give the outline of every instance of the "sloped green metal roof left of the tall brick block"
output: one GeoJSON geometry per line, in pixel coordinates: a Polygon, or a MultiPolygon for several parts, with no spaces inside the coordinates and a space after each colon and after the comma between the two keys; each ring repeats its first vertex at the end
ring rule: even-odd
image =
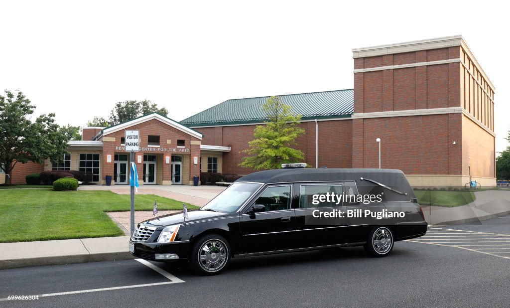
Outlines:
{"type": "MultiPolygon", "coordinates": [[[[353,89],[277,96],[292,107],[293,113],[300,114],[303,120],[350,117],[354,112],[353,89]]],[[[228,99],[180,123],[187,126],[213,126],[263,122],[266,116],[262,105],[269,97],[228,99]]]]}

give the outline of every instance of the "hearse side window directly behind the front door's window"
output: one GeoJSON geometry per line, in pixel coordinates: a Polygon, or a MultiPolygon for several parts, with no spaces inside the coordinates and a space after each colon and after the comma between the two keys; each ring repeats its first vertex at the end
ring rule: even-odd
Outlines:
{"type": "Polygon", "coordinates": [[[299,197],[299,208],[333,208],[341,207],[342,200],[338,202],[337,197],[330,197],[329,202],[325,200],[326,194],[335,194],[341,196],[343,187],[341,184],[324,184],[324,185],[301,185],[301,195],[299,197]],[[322,201],[321,196],[324,196],[322,201]],[[315,204],[314,204],[315,203],[315,204]],[[338,203],[338,204],[337,204],[338,203]]]}

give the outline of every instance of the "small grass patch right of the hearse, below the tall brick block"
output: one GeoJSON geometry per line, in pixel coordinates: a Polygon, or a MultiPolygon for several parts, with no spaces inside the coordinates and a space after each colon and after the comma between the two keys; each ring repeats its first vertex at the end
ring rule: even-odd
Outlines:
{"type": "Polygon", "coordinates": [[[427,191],[415,190],[418,203],[422,206],[453,208],[473,202],[476,197],[472,191],[427,191]]]}

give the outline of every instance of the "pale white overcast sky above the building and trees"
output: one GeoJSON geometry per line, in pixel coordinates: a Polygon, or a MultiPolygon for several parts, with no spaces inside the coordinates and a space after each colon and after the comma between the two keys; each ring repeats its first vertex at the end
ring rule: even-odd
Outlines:
{"type": "Polygon", "coordinates": [[[491,1],[2,1],[0,90],[60,124],[127,99],[180,121],[230,98],[349,89],[352,48],[462,34],[496,87],[501,151],[507,14],[491,1]]]}

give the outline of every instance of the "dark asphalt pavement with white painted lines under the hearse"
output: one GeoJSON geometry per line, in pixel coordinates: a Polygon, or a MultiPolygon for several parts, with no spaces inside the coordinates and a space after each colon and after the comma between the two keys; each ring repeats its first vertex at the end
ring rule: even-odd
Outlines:
{"type": "Polygon", "coordinates": [[[197,276],[187,266],[136,260],[0,271],[0,306],[9,307],[509,303],[510,216],[431,229],[425,237],[397,242],[387,258],[369,258],[361,247],[260,256],[233,259],[224,274],[211,277],[197,276]],[[104,288],[113,289],[97,290],[104,288]],[[36,300],[3,300],[36,294],[36,300]]]}

